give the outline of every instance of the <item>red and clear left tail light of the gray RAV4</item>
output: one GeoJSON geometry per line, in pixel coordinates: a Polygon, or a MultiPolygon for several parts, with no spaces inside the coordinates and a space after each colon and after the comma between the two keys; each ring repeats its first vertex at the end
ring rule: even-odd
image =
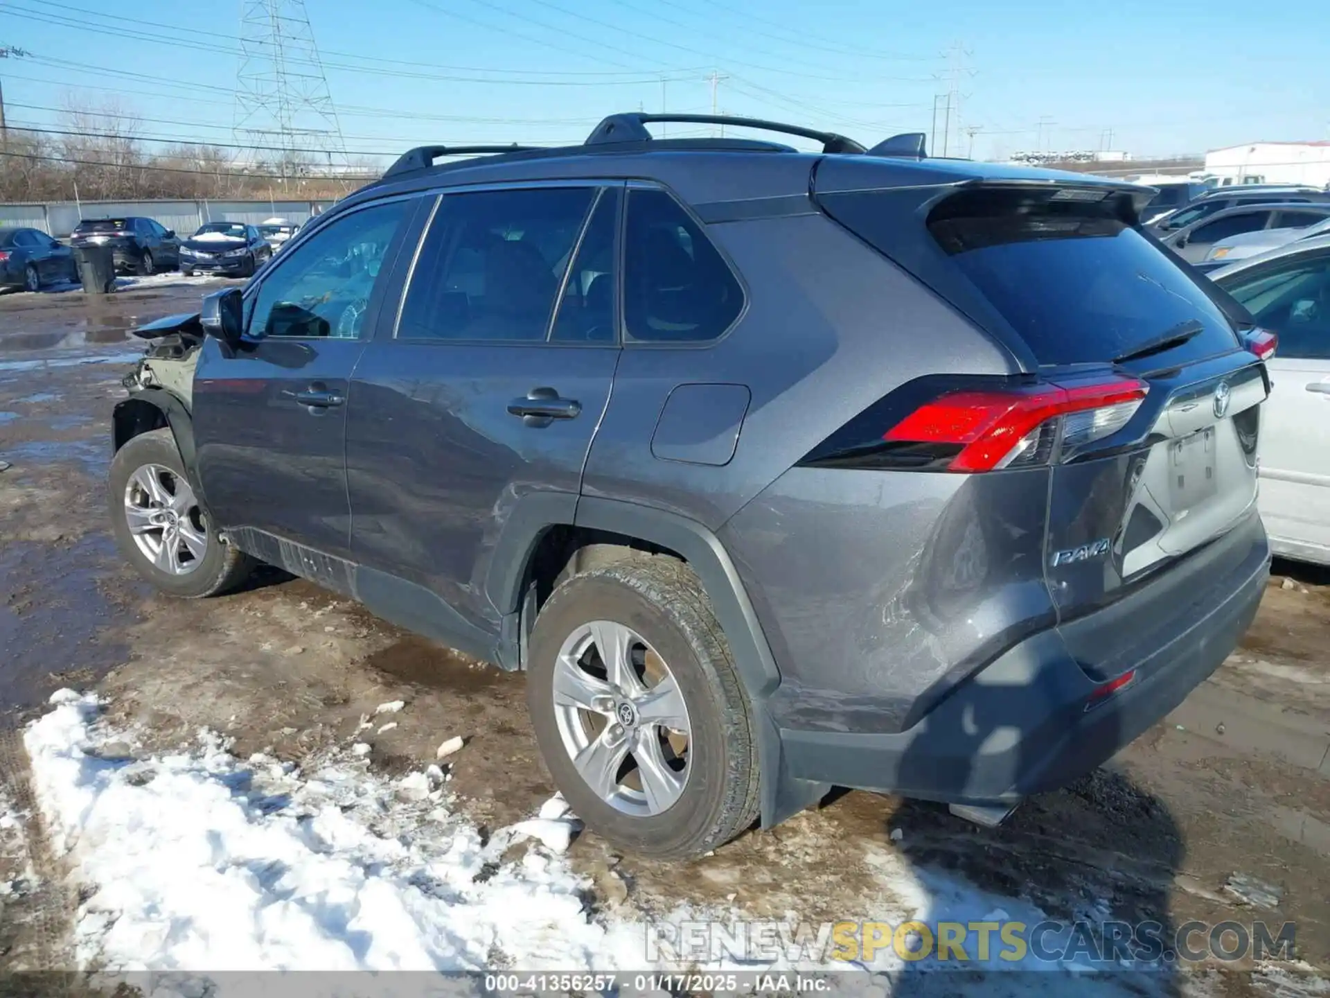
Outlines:
{"type": "Polygon", "coordinates": [[[1093,385],[954,391],[919,406],[891,427],[887,443],[959,446],[947,471],[992,471],[1035,463],[1061,420],[1063,446],[1079,447],[1117,432],[1145,398],[1134,378],[1093,385]]]}

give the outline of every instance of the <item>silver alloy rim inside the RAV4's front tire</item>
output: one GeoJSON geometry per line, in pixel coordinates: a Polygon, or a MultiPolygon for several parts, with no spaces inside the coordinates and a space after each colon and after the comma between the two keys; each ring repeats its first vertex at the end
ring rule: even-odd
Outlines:
{"type": "Polygon", "coordinates": [[[138,551],[169,575],[188,575],[207,554],[207,524],[184,476],[144,464],[125,484],[125,522],[138,551]]]}

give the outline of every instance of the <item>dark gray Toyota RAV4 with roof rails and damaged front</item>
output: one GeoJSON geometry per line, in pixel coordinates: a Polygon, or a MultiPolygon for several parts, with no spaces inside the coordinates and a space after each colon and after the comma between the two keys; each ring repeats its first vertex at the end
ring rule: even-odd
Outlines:
{"type": "Polygon", "coordinates": [[[1150,192],[658,120],[412,150],[141,330],[126,558],[528,671],[555,784],[656,856],[837,784],[992,824],[1178,704],[1269,574],[1273,337],[1150,192]]]}

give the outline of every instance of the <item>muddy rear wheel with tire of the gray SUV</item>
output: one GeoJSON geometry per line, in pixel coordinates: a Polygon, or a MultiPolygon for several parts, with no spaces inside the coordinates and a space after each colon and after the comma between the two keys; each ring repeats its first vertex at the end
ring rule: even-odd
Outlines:
{"type": "Polygon", "coordinates": [[[642,556],[575,575],[541,608],[529,648],[536,740],[588,828],[681,860],[753,824],[751,711],[686,564],[642,556]]]}

